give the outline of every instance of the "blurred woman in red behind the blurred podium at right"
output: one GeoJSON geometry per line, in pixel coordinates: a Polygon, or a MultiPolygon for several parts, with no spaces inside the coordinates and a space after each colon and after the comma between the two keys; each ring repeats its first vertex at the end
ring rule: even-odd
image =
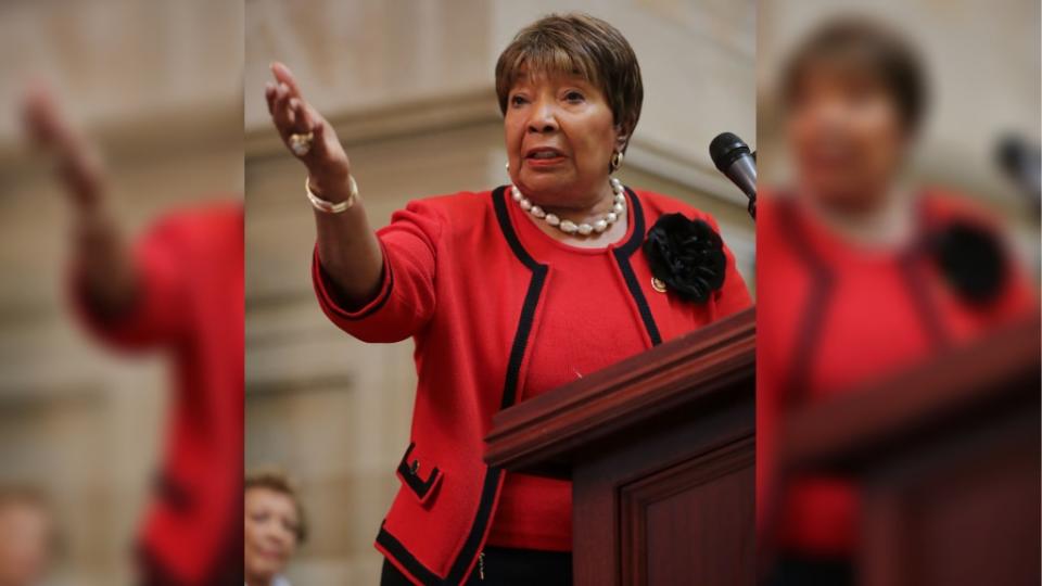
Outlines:
{"type": "MultiPolygon", "coordinates": [[[[977,206],[908,183],[927,107],[918,53],[889,27],[841,18],[783,68],[787,189],[761,190],[758,467],[777,584],[850,584],[854,487],[774,485],[779,413],[974,339],[1034,307],[999,224],[977,206]]],[[[765,521],[764,521],[765,520],[765,521]]]]}

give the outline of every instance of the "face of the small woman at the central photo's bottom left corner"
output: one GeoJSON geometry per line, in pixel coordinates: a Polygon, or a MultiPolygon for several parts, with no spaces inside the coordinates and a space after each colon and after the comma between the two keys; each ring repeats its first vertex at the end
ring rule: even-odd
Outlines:
{"type": "Polygon", "coordinates": [[[270,488],[245,493],[245,573],[270,581],[296,550],[300,519],[293,499],[270,488]]]}

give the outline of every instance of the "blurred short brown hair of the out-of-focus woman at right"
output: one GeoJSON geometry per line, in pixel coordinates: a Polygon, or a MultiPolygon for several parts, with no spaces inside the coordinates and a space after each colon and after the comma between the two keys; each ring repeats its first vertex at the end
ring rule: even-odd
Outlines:
{"type": "Polygon", "coordinates": [[[918,51],[892,27],[865,16],[841,16],[819,26],[782,68],[784,101],[791,104],[806,73],[823,65],[878,80],[907,132],[918,130],[928,101],[926,71],[918,51]]]}

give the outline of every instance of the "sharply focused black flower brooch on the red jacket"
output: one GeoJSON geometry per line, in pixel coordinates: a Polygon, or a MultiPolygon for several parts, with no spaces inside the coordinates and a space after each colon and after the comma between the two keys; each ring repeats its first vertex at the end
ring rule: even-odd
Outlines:
{"type": "Polygon", "coordinates": [[[662,216],[648,231],[644,254],[657,291],[670,290],[681,298],[706,303],[724,284],[724,243],[704,220],[683,214],[662,216]]]}

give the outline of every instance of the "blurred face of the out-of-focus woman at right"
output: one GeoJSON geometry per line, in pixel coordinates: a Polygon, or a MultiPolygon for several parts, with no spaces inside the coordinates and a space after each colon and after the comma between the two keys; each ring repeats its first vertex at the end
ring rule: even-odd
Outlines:
{"type": "Polygon", "coordinates": [[[790,104],[789,146],[804,196],[851,211],[886,194],[906,148],[892,95],[868,75],[806,72],[790,104]]]}

